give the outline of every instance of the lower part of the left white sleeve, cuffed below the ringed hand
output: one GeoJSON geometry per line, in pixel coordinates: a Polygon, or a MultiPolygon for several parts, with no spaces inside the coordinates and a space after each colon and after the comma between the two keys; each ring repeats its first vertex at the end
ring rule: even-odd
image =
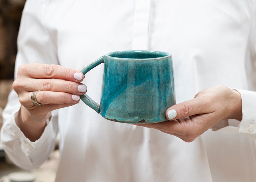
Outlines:
{"type": "MultiPolygon", "coordinates": [[[[3,112],[4,124],[0,138],[10,160],[20,168],[31,170],[47,160],[54,150],[58,126],[56,117],[52,117],[47,121],[48,125],[41,137],[31,142],[15,123],[15,116],[20,106],[16,92],[11,91],[9,102],[3,112]]],[[[53,115],[56,115],[56,112],[53,115]]]]}

